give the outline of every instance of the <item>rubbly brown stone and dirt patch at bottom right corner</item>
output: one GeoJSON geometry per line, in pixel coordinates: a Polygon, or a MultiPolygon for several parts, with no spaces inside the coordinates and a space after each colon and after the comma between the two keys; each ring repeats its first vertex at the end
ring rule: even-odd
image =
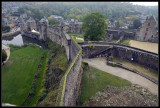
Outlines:
{"type": "Polygon", "coordinates": [[[138,85],[107,86],[83,106],[158,106],[158,96],[138,85]]]}

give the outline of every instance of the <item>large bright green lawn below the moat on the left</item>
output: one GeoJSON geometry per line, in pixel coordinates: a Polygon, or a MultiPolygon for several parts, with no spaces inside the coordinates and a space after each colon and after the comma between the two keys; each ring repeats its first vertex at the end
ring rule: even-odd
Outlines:
{"type": "Polygon", "coordinates": [[[27,98],[40,58],[46,50],[36,46],[11,47],[9,66],[2,66],[2,103],[21,105],[27,98]]]}

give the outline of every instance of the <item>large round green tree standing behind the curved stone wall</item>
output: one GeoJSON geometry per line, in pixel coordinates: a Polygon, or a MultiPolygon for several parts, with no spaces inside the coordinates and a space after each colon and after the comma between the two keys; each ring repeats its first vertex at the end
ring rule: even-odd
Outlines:
{"type": "Polygon", "coordinates": [[[99,41],[105,35],[108,25],[105,16],[99,12],[86,15],[83,19],[82,30],[85,32],[85,41],[99,41]]]}

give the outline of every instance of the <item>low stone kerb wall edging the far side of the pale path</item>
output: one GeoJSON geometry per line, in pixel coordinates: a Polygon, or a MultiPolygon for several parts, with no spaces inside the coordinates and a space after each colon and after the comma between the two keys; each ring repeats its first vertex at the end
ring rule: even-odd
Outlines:
{"type": "Polygon", "coordinates": [[[131,68],[129,68],[129,67],[126,67],[126,66],[122,65],[121,63],[116,63],[116,62],[112,62],[112,61],[107,61],[107,65],[117,66],[117,67],[120,67],[120,68],[129,70],[129,71],[134,72],[134,73],[136,73],[136,74],[138,74],[138,75],[141,75],[142,77],[144,77],[144,78],[146,78],[146,79],[148,79],[148,80],[150,80],[150,81],[152,81],[153,83],[155,83],[155,84],[158,85],[158,81],[155,80],[154,78],[151,78],[150,76],[148,76],[148,75],[146,75],[146,74],[143,74],[143,73],[141,73],[141,72],[139,72],[139,71],[137,71],[137,70],[135,70],[135,69],[131,69],[131,68]]]}

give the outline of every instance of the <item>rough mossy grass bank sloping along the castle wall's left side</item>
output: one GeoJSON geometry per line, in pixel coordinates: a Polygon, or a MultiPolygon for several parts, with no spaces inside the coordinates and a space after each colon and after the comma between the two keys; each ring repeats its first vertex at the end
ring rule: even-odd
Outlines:
{"type": "Polygon", "coordinates": [[[49,54],[36,106],[55,106],[60,80],[69,66],[64,47],[49,39],[47,44],[49,54]]]}

